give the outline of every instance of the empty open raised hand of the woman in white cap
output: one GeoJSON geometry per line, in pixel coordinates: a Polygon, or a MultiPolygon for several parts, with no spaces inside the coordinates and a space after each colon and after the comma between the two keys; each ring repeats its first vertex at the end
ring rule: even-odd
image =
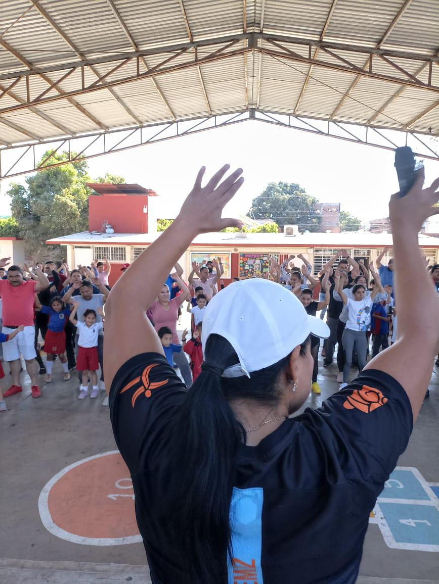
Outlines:
{"type": "Polygon", "coordinates": [[[229,170],[228,164],[220,168],[212,176],[208,184],[201,186],[205,166],[202,166],[181,210],[178,219],[184,221],[186,225],[193,225],[193,231],[196,233],[208,233],[209,231],[221,231],[226,227],[242,227],[241,221],[237,219],[223,219],[221,214],[224,206],[232,199],[234,194],[244,182],[240,177],[243,172],[241,168],[231,173],[226,179],[222,180],[229,170]]]}

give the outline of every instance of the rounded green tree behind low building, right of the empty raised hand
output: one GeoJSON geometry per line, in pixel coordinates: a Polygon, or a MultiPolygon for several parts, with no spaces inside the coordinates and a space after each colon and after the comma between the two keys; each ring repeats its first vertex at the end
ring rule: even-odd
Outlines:
{"type": "Polygon", "coordinates": [[[302,231],[319,231],[322,217],[313,210],[317,199],[296,183],[268,183],[253,199],[248,217],[272,219],[281,227],[299,225],[302,231]]]}

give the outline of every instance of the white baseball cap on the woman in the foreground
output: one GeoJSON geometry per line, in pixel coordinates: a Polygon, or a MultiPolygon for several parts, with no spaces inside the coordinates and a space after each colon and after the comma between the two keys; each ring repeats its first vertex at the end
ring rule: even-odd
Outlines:
{"type": "Polygon", "coordinates": [[[326,339],[326,322],[307,314],[299,298],[280,284],[251,278],[217,293],[203,317],[202,346],[212,334],[227,339],[239,359],[223,377],[250,377],[284,359],[312,333],[326,339]]]}

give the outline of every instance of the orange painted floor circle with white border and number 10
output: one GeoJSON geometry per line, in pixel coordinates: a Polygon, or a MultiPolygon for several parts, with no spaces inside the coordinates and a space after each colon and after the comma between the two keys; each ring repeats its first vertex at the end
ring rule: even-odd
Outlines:
{"type": "Polygon", "coordinates": [[[130,473],[117,451],[86,458],[58,473],[44,487],[39,507],[44,526],[75,543],[141,541],[130,473]]]}

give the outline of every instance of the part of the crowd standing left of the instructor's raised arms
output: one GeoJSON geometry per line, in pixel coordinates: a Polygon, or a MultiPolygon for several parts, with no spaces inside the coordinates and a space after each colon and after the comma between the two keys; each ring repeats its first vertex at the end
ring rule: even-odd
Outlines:
{"type": "MultiPolygon", "coordinates": [[[[78,371],[78,398],[96,398],[105,391],[103,381],[103,304],[109,294],[108,259],[70,270],[64,261],[10,265],[0,260],[0,319],[2,356],[9,364],[12,385],[0,390],[0,412],[6,411],[5,398],[23,391],[20,383],[21,358],[31,380],[33,398],[42,395],[44,383],[54,381],[53,365],[59,360],[64,381],[78,371]],[[41,352],[46,353],[43,361],[41,352]],[[97,371],[101,368],[101,388],[97,371]]],[[[122,270],[127,269],[127,265],[122,270]]],[[[62,376],[62,377],[61,377],[62,376]]],[[[0,364],[0,377],[5,371],[0,364]]],[[[105,398],[102,405],[108,405],[105,398]]]]}

